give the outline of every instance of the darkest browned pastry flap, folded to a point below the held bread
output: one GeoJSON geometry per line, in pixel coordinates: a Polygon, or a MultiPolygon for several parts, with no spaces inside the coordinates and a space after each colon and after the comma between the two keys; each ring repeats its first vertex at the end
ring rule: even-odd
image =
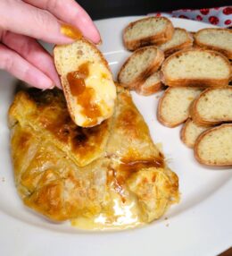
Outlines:
{"type": "Polygon", "coordinates": [[[10,109],[12,123],[19,122],[39,130],[40,136],[51,139],[67,152],[78,166],[86,166],[104,153],[109,124],[82,128],[74,124],[60,90],[21,91],[10,109]]]}

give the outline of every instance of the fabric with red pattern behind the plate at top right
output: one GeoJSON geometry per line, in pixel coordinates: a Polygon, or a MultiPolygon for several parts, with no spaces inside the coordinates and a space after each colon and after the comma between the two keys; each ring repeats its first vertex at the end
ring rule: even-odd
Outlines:
{"type": "Polygon", "coordinates": [[[149,13],[148,15],[176,17],[203,21],[220,27],[232,26],[232,6],[204,8],[200,10],[182,9],[170,13],[149,13]]]}

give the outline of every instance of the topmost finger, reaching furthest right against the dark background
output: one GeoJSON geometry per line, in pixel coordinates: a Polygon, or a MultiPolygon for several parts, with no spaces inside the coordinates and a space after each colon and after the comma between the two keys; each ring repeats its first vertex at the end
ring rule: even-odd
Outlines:
{"type": "Polygon", "coordinates": [[[99,43],[101,40],[94,22],[74,0],[24,0],[24,2],[47,10],[61,21],[79,28],[84,37],[89,38],[94,43],[99,43]]]}

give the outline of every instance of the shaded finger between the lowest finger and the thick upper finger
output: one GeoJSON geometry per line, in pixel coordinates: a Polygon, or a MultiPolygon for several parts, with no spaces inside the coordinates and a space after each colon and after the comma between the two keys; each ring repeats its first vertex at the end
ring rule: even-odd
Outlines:
{"type": "Polygon", "coordinates": [[[35,39],[7,31],[2,36],[2,42],[45,73],[57,87],[61,88],[53,57],[35,39]]]}

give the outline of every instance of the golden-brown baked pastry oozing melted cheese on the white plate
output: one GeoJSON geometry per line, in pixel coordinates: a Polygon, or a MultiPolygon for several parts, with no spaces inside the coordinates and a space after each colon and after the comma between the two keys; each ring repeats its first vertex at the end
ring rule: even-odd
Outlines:
{"type": "Polygon", "coordinates": [[[114,115],[92,128],[71,120],[60,90],[17,93],[9,110],[15,184],[22,201],[80,228],[138,226],[178,202],[164,163],[128,90],[114,115]]]}

